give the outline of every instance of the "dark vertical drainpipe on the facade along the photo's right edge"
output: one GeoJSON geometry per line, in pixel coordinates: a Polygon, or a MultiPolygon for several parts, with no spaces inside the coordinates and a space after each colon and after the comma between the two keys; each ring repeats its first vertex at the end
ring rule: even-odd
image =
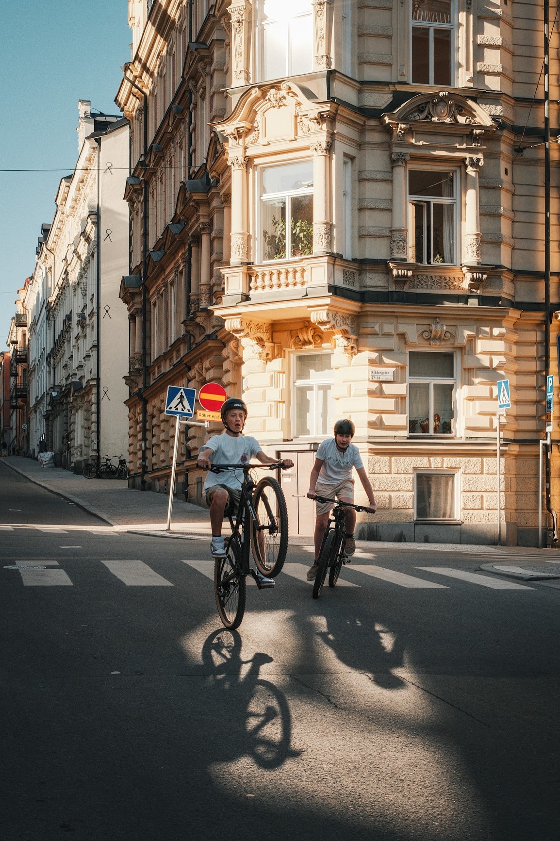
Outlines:
{"type": "MultiPolygon", "coordinates": [[[[545,170],[545,388],[550,373],[550,96],[549,96],[549,41],[548,32],[549,0],[544,0],[544,170],[545,170]]],[[[547,511],[552,517],[552,542],[558,542],[557,513],[552,508],[550,494],[550,433],[547,432],[545,486],[547,511]]]]}

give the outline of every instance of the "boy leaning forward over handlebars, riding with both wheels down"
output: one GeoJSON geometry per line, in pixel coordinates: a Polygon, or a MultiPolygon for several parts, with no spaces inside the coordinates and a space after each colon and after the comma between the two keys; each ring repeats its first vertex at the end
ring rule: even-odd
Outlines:
{"type": "MultiPolygon", "coordinates": [[[[362,488],[366,491],[367,500],[369,500],[367,510],[375,514],[377,504],[373,496],[372,485],[367,479],[366,468],[363,466],[360,451],[355,444],[351,443],[356,427],[352,421],[336,421],[334,431],[335,437],[327,438],[326,441],[321,442],[317,450],[315,463],[309,478],[307,495],[310,500],[314,500],[316,496],[328,496],[330,499],[336,498],[342,502],[353,502],[354,479],[352,468],[355,467],[362,482],[362,488]]],[[[317,574],[317,562],[332,506],[332,502],[315,502],[317,516],[314,531],[314,562],[307,571],[308,581],[313,581],[317,574]]],[[[345,513],[347,555],[353,555],[356,552],[355,526],[356,511],[353,508],[347,508],[345,513]]]]}

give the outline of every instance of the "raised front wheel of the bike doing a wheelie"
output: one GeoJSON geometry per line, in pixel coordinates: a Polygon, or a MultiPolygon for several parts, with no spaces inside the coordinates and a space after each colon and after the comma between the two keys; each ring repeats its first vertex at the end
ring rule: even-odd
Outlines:
{"type": "Polygon", "coordinates": [[[288,511],[282,488],[272,476],[256,485],[253,506],[256,522],[251,522],[251,548],[256,569],[274,578],[283,568],[288,551],[288,511]]]}

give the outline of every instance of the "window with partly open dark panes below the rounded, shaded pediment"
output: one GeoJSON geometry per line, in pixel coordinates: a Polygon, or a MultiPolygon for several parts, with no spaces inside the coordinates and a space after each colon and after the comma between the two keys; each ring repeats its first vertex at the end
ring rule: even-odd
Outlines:
{"type": "Polygon", "coordinates": [[[409,261],[456,263],[457,172],[409,169],[409,261]]]}

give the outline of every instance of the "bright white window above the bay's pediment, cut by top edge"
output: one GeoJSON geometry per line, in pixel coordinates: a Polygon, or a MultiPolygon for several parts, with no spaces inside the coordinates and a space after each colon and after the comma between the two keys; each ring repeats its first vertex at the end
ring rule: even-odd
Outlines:
{"type": "Polygon", "coordinates": [[[313,69],[311,0],[262,0],[262,78],[298,76],[313,69]]]}

